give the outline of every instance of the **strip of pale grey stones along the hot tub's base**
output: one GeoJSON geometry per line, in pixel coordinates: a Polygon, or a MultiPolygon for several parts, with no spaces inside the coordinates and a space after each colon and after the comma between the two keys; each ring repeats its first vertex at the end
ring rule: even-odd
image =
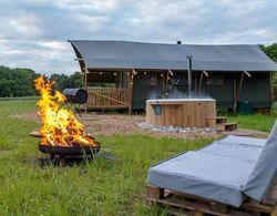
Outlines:
{"type": "Polygon", "coordinates": [[[216,127],[181,127],[181,126],[158,126],[142,122],[137,124],[144,130],[151,130],[153,132],[173,132],[183,134],[217,134],[219,131],[216,127]]]}

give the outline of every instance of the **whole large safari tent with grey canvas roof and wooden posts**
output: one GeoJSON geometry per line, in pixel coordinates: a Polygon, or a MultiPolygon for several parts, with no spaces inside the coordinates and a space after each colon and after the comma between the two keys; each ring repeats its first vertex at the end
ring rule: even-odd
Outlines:
{"type": "Polygon", "coordinates": [[[130,41],[69,41],[89,92],[88,109],[145,109],[147,99],[187,95],[192,56],[194,95],[218,109],[244,103],[270,110],[270,80],[277,64],[256,44],[194,45],[130,41]]]}

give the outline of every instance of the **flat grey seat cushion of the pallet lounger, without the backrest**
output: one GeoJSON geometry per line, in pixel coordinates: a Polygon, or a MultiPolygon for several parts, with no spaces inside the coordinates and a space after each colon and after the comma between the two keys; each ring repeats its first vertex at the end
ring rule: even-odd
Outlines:
{"type": "Polygon", "coordinates": [[[263,138],[228,136],[152,166],[147,183],[238,207],[265,144],[263,138]]]}

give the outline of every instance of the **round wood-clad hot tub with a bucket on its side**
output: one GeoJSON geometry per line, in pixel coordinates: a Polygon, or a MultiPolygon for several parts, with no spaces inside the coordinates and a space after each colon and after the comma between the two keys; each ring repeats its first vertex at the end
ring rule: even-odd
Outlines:
{"type": "Polygon", "coordinates": [[[214,99],[155,99],[146,101],[146,123],[160,126],[206,127],[216,117],[214,99]]]}

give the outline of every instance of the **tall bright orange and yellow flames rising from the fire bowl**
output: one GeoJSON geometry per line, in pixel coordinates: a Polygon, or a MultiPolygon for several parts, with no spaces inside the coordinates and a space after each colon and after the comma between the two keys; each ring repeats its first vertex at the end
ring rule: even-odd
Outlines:
{"type": "Polygon", "coordinates": [[[45,81],[43,75],[35,80],[35,89],[41,94],[37,103],[42,122],[41,144],[94,146],[94,138],[84,135],[83,124],[74,113],[63,107],[65,96],[59,91],[52,91],[53,84],[54,82],[45,81]]]}

